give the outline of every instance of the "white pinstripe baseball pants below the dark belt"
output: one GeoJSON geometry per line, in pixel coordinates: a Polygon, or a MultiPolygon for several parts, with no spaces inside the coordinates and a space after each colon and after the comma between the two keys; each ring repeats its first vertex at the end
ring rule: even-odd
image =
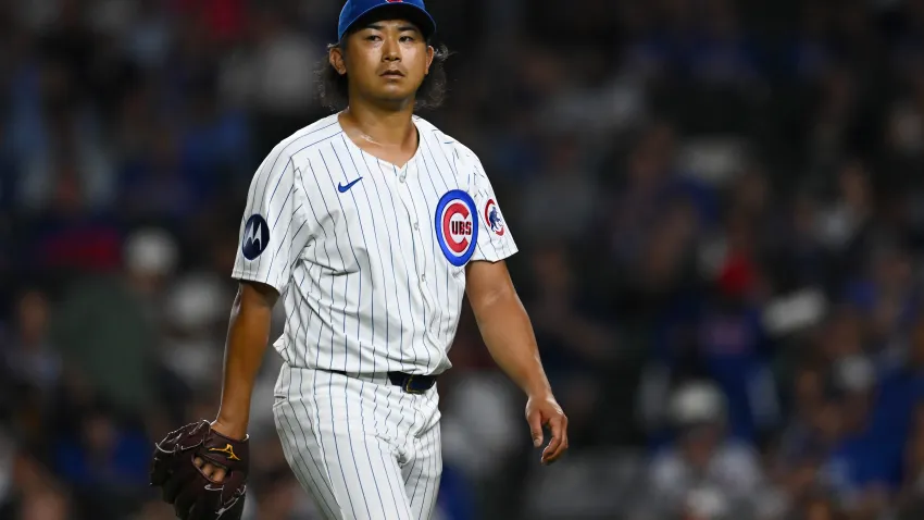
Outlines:
{"type": "Polygon", "coordinates": [[[330,520],[421,520],[442,471],[436,388],[284,366],[273,414],[286,459],[330,520]]]}

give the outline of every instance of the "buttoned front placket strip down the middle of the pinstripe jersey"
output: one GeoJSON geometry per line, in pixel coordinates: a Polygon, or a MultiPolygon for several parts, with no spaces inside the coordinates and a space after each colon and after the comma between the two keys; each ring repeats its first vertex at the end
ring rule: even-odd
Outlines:
{"type": "MultiPolygon", "coordinates": [[[[430,289],[432,281],[427,276],[427,272],[430,270],[429,268],[436,259],[427,257],[427,252],[430,250],[430,245],[427,243],[426,236],[424,235],[429,230],[429,216],[424,214],[426,212],[426,206],[423,203],[423,200],[414,199],[413,189],[411,187],[413,183],[416,183],[420,179],[416,161],[409,161],[404,168],[398,170],[397,175],[398,193],[400,194],[401,201],[404,203],[404,208],[408,210],[408,214],[410,215],[409,223],[411,225],[411,237],[414,240],[414,246],[412,248],[412,253],[414,255],[413,268],[415,270],[416,286],[419,294],[421,295],[421,302],[423,304],[423,323],[426,324],[424,326],[424,341],[434,343],[428,324],[430,314],[433,313],[433,302],[435,298],[430,289]]],[[[408,269],[411,268],[411,265],[408,267],[408,269]]]]}

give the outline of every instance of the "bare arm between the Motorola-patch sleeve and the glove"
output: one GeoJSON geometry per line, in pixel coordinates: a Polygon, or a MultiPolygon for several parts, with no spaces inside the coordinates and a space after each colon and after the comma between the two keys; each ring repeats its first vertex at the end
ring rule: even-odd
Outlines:
{"type": "Polygon", "coordinates": [[[222,403],[217,422],[229,435],[244,437],[250,420],[250,401],[257,374],[270,341],[273,297],[241,286],[232,309],[225,346],[222,403]]]}

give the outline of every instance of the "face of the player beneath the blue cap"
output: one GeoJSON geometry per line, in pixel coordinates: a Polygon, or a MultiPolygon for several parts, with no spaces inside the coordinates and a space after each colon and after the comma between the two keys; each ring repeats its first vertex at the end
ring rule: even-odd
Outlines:
{"type": "Polygon", "coordinates": [[[351,97],[359,94],[391,103],[413,99],[434,53],[420,29],[403,20],[371,24],[350,35],[346,55],[337,55],[338,50],[332,51],[332,64],[349,74],[351,97]]]}

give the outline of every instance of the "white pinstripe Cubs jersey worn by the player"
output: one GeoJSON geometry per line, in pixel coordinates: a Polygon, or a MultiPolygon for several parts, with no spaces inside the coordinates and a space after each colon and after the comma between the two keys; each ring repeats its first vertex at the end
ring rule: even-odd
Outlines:
{"type": "Polygon", "coordinates": [[[360,149],[337,115],[260,165],[233,276],[276,288],[292,367],[438,374],[455,335],[467,261],[516,252],[478,158],[425,120],[402,168],[360,149]]]}

